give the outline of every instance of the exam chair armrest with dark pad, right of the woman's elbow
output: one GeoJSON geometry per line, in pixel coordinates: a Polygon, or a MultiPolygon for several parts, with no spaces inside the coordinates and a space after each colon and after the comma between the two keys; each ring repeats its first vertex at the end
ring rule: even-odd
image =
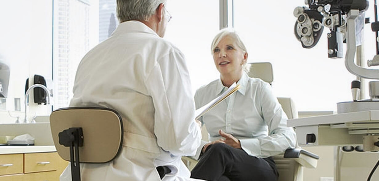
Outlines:
{"type": "Polygon", "coordinates": [[[293,158],[306,168],[316,168],[319,156],[301,148],[287,149],[283,158],[293,158]]]}

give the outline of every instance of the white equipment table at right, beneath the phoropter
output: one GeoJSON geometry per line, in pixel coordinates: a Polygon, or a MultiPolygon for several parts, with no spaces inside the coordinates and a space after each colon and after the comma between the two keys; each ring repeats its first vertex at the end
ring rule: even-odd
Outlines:
{"type": "MultiPolygon", "coordinates": [[[[379,152],[342,151],[342,146],[363,145],[363,137],[379,134],[379,111],[359,111],[289,119],[300,146],[337,146],[334,180],[366,180],[379,159],[379,152]]],[[[357,147],[356,147],[357,148],[357,147]]],[[[361,147],[362,148],[362,147],[361,147]]],[[[322,158],[323,155],[320,155],[322,158]]],[[[371,181],[379,179],[376,170],[371,181]]]]}

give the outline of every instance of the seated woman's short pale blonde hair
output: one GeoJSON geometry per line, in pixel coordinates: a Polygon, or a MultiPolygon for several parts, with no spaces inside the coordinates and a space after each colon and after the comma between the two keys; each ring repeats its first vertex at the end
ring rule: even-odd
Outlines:
{"type": "Polygon", "coordinates": [[[246,47],[243,44],[238,33],[233,28],[224,28],[224,29],[220,30],[220,32],[215,36],[215,38],[212,41],[212,44],[211,44],[211,54],[212,55],[214,53],[213,50],[215,50],[218,43],[221,41],[222,38],[224,38],[227,35],[232,36],[236,40],[237,46],[240,47],[244,53],[247,52],[246,47]]]}

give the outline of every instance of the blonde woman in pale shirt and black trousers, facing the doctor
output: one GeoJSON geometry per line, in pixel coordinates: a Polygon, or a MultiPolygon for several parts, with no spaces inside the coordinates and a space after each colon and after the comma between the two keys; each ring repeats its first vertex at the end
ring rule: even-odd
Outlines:
{"type": "Polygon", "coordinates": [[[247,51],[233,29],[223,29],[213,39],[211,53],[220,78],[200,87],[196,108],[219,96],[233,83],[240,89],[200,118],[211,142],[202,142],[199,163],[192,178],[211,181],[275,181],[275,162],[270,156],[294,148],[296,134],[287,127],[271,86],[244,72],[247,51]],[[200,156],[201,155],[201,156],[200,156]]]}

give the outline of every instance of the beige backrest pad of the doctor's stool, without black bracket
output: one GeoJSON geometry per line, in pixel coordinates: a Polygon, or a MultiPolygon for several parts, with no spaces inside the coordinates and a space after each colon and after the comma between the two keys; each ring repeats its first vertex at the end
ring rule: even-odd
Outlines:
{"type": "Polygon", "coordinates": [[[58,134],[72,127],[83,129],[80,162],[103,163],[117,156],[122,147],[123,126],[120,115],[106,108],[63,108],[50,114],[50,127],[56,151],[70,161],[70,147],[59,144],[58,134]]]}

